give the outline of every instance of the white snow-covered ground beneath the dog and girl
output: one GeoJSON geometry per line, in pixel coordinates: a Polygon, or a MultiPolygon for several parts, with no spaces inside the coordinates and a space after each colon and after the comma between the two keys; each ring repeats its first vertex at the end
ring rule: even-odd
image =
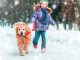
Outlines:
{"type": "MultiPolygon", "coordinates": [[[[62,29],[62,27],[61,27],[62,29]]],[[[0,27],[0,60],[80,60],[80,31],[55,30],[49,27],[46,33],[47,51],[40,51],[41,38],[38,49],[34,49],[32,42],[29,54],[20,56],[17,48],[15,29],[0,27]]],[[[32,32],[32,39],[34,32],[32,32]]]]}

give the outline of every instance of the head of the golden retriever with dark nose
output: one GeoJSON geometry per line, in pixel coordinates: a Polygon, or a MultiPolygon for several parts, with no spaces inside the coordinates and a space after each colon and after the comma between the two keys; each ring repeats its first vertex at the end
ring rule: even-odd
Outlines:
{"type": "Polygon", "coordinates": [[[27,31],[27,26],[24,22],[19,22],[16,24],[16,34],[20,36],[25,36],[27,31]]]}

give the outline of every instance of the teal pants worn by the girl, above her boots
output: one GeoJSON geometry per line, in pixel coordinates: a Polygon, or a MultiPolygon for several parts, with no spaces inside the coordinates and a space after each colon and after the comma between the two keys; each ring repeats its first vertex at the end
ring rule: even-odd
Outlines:
{"type": "Polygon", "coordinates": [[[46,48],[46,38],[45,38],[45,31],[35,31],[35,37],[33,39],[33,45],[38,44],[39,37],[42,37],[42,45],[41,48],[46,48]]]}

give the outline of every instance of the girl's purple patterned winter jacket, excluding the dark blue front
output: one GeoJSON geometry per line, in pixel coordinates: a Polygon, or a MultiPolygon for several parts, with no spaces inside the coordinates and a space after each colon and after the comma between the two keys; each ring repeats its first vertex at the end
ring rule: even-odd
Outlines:
{"type": "Polygon", "coordinates": [[[49,14],[47,15],[47,20],[49,23],[46,25],[38,22],[38,19],[40,19],[41,17],[42,17],[42,11],[39,10],[39,11],[35,11],[31,18],[31,22],[35,23],[35,27],[37,31],[46,31],[48,29],[49,23],[53,26],[55,25],[55,21],[52,19],[52,17],[49,14]]]}

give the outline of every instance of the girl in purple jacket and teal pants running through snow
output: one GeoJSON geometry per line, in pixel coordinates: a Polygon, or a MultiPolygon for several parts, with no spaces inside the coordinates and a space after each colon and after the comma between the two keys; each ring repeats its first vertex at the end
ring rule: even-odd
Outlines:
{"type": "Polygon", "coordinates": [[[54,20],[51,18],[50,14],[52,10],[48,7],[48,3],[45,1],[40,2],[34,8],[35,12],[32,15],[31,21],[35,25],[35,37],[33,39],[33,46],[37,48],[39,37],[42,37],[41,52],[46,51],[46,30],[48,29],[49,23],[53,26],[55,25],[54,20]]]}

